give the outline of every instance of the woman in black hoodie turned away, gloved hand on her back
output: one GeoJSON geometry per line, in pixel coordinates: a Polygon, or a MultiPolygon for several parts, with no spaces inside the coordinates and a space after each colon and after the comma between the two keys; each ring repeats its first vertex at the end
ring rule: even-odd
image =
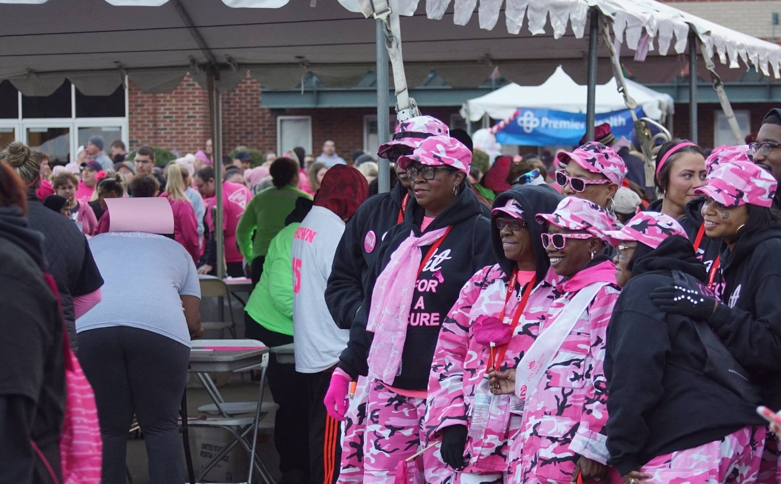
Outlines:
{"type": "Polygon", "coordinates": [[[762,420],[748,393],[719,383],[708,366],[728,369],[737,383],[745,382],[745,370],[704,322],[660,311],[652,299],[660,287],[686,297],[711,294],[683,227],[669,215],[641,212],[608,235],[619,247],[615,270],[623,287],[604,365],[610,463],[626,484],[754,482],[762,420]]]}

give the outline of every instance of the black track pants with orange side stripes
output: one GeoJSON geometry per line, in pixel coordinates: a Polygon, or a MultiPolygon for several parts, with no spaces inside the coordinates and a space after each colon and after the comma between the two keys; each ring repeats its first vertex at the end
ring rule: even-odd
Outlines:
{"type": "Polygon", "coordinates": [[[328,415],[323,404],[332,373],[333,369],[301,373],[306,379],[309,397],[309,473],[314,484],[334,484],[339,477],[340,422],[328,415]]]}

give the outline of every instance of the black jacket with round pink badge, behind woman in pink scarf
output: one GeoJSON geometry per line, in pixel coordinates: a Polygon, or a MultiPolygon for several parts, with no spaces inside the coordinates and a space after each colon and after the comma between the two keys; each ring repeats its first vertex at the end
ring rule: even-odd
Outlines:
{"type": "Polygon", "coordinates": [[[401,201],[407,190],[396,183],[388,193],[364,201],[344,227],[331,275],[326,286],[326,304],[341,329],[349,329],[363,304],[366,279],[385,233],[398,223],[401,201]]]}

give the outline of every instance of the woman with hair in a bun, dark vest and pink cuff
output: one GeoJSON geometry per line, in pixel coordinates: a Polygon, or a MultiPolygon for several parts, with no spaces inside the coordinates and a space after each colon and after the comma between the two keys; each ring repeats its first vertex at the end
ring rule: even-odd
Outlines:
{"type": "MultiPolygon", "coordinates": [[[[103,279],[95,265],[95,258],[76,224],[38,201],[35,190],[41,182],[41,160],[37,152],[19,141],[13,141],[0,151],[0,162],[7,163],[27,185],[27,220],[31,229],[44,235],[48,272],[57,283],[62,319],[75,352],[78,350],[76,319],[98,304],[102,297],[100,288],[103,279]]],[[[75,179],[75,176],[69,179],[74,186],[78,181],[75,179]]],[[[68,203],[72,201],[73,193],[68,203]]]]}

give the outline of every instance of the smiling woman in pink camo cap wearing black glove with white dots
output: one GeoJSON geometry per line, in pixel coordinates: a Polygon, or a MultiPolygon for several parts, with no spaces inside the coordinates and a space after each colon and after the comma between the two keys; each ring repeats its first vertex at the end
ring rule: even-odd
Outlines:
{"type": "MultiPolygon", "coordinates": [[[[781,214],[771,208],[777,187],[772,174],[752,162],[717,165],[697,192],[705,196],[705,234],[722,240],[721,299],[704,291],[683,294],[675,286],[651,294],[661,311],[707,322],[761,388],[760,404],[772,409],[781,408],[781,214]]],[[[771,436],[758,482],[779,482],[778,454],[771,436]]]]}

